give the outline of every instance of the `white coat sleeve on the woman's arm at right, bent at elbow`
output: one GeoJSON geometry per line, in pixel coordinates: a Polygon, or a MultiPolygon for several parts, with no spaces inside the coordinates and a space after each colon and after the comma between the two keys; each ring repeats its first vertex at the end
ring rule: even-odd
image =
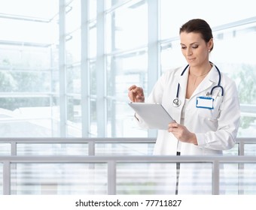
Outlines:
{"type": "Polygon", "coordinates": [[[224,88],[218,129],[206,133],[196,133],[198,146],[214,150],[227,150],[236,143],[239,128],[240,108],[236,84],[231,82],[224,88]]]}

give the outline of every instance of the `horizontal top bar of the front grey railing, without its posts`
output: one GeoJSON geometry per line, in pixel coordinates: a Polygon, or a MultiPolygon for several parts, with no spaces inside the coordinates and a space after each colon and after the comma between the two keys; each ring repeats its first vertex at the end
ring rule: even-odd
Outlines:
{"type": "Polygon", "coordinates": [[[253,155],[248,156],[222,156],[222,155],[102,155],[102,156],[88,156],[88,155],[23,155],[23,156],[0,156],[0,162],[9,161],[15,163],[106,163],[108,161],[116,161],[122,163],[207,163],[207,162],[225,162],[225,163],[256,163],[256,158],[253,155]]]}

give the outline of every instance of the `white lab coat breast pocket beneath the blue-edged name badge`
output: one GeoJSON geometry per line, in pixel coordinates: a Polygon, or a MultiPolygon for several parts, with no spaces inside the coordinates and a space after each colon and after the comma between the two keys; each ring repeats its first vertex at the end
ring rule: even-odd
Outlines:
{"type": "Polygon", "coordinates": [[[208,118],[209,121],[218,121],[218,118],[221,114],[221,99],[222,97],[218,96],[213,101],[213,109],[197,107],[197,113],[202,118],[208,118]]]}

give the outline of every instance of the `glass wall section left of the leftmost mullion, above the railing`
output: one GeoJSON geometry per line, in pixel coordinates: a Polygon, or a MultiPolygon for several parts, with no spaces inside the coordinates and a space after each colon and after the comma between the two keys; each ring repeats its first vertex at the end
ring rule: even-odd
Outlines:
{"type": "Polygon", "coordinates": [[[58,10],[56,0],[0,4],[2,137],[59,136],[58,10]]]}

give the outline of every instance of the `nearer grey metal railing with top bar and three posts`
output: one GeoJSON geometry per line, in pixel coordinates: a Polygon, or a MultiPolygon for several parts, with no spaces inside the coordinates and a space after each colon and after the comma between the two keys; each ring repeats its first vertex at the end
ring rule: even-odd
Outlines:
{"type": "Polygon", "coordinates": [[[0,156],[3,163],[3,192],[11,194],[11,163],[107,163],[108,194],[116,194],[117,163],[212,163],[212,194],[219,194],[220,163],[256,163],[254,156],[0,156]]]}

